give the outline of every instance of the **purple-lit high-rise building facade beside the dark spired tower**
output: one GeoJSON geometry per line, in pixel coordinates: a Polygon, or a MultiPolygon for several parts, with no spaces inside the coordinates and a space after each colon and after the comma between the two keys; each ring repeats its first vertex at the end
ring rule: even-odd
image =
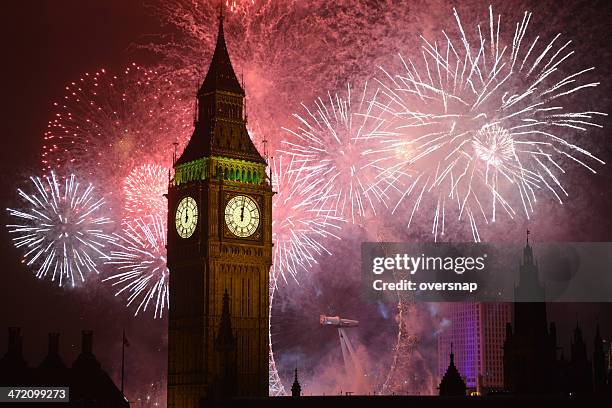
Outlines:
{"type": "Polygon", "coordinates": [[[510,303],[452,303],[450,324],[438,337],[438,375],[444,375],[453,343],[455,365],[470,391],[504,387],[503,345],[510,303]]]}

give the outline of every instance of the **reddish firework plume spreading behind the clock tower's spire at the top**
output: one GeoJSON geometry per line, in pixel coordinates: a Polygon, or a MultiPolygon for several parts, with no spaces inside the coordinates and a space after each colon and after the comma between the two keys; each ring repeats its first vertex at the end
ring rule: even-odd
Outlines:
{"type": "MultiPolygon", "coordinates": [[[[249,122],[265,130],[272,151],[280,146],[274,145],[279,138],[271,136],[299,108],[299,101],[314,99],[317,90],[335,92],[348,81],[365,81],[373,67],[387,60],[390,42],[404,44],[411,36],[406,23],[411,13],[391,0],[224,3],[231,11],[224,20],[225,38],[246,85],[249,122]]],[[[161,36],[142,47],[161,55],[159,71],[186,91],[192,92],[206,74],[215,47],[218,4],[169,0],[152,6],[159,20],[178,35],[161,36]]]]}

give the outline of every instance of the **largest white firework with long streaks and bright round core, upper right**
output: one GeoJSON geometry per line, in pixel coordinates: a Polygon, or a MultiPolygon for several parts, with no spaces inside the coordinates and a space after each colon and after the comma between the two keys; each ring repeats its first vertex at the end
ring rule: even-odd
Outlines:
{"type": "Polygon", "coordinates": [[[593,173],[592,163],[604,164],[575,139],[602,127],[597,118],[605,114],[570,107],[569,98],[599,85],[583,80],[594,68],[567,73],[563,64],[575,52],[560,34],[528,40],[531,13],[509,39],[492,7],[488,25],[472,37],[454,17],[458,38],[445,31],[441,42],[422,37],[420,60],[400,56],[397,74],[381,68],[397,120],[397,137],[382,143],[404,156],[383,178],[401,196],[394,211],[412,203],[408,227],[419,209],[431,210],[437,239],[453,212],[480,241],[480,222],[499,214],[529,218],[542,192],[563,203],[570,164],[593,173]]]}

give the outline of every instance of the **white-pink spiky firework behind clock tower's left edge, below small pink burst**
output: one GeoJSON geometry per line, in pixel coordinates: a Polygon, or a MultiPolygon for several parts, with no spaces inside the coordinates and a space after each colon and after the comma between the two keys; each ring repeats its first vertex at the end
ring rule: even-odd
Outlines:
{"type": "Polygon", "coordinates": [[[153,303],[154,318],[163,316],[164,309],[170,306],[164,218],[148,216],[124,222],[105,263],[116,273],[103,282],[119,287],[115,296],[127,295],[127,306],[136,308],[134,316],[146,312],[153,303]]]}

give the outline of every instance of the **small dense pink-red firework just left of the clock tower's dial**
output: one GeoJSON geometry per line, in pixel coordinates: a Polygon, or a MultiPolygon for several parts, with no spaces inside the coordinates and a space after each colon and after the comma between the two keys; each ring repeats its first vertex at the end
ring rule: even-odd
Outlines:
{"type": "Polygon", "coordinates": [[[124,219],[134,220],[152,215],[166,219],[168,205],[168,169],[156,164],[143,164],[132,169],[123,183],[124,219]]]}

